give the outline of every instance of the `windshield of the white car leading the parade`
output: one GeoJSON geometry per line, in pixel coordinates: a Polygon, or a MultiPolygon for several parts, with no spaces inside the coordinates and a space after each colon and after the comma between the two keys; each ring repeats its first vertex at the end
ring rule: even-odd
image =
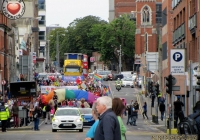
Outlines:
{"type": "Polygon", "coordinates": [[[77,109],[60,109],[57,110],[55,116],[80,116],[77,109]]]}

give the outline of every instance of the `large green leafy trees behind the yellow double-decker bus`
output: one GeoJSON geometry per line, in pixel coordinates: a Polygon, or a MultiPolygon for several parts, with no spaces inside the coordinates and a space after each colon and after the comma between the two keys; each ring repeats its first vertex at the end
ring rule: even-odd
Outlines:
{"type": "Polygon", "coordinates": [[[123,59],[133,58],[135,50],[135,23],[129,15],[122,15],[111,23],[99,17],[86,16],[75,19],[65,28],[57,28],[50,32],[50,56],[55,60],[56,33],[59,32],[60,59],[64,53],[84,53],[89,56],[98,51],[101,61],[109,63],[110,59],[118,59],[117,49],[122,47],[123,59]],[[61,34],[65,34],[62,36],[61,34]]]}

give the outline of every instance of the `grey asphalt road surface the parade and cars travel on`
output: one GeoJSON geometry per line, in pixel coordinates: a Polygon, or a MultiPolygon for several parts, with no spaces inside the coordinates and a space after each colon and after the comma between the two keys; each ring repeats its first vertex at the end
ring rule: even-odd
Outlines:
{"type": "MultiPolygon", "coordinates": [[[[131,100],[140,102],[137,93],[140,89],[137,88],[122,88],[119,92],[115,89],[113,81],[104,82],[104,84],[111,87],[112,95],[114,97],[125,98],[127,103],[131,100]]],[[[123,122],[126,125],[127,117],[124,116],[123,122]]],[[[33,125],[31,123],[30,125],[33,125]]],[[[150,125],[147,120],[143,120],[141,114],[138,115],[137,126],[126,125],[127,140],[151,140],[152,135],[164,134],[154,126],[150,125]]],[[[0,140],[84,140],[85,134],[89,128],[84,128],[84,132],[78,131],[58,131],[51,132],[51,125],[44,124],[40,121],[40,131],[22,130],[22,131],[8,131],[6,133],[0,132],[0,140]]]]}

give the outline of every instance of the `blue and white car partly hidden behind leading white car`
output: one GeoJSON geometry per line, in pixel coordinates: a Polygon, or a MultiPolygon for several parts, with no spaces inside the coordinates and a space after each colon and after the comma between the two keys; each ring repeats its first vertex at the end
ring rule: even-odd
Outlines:
{"type": "Polygon", "coordinates": [[[95,122],[91,108],[79,108],[83,117],[83,126],[92,126],[95,122]]]}

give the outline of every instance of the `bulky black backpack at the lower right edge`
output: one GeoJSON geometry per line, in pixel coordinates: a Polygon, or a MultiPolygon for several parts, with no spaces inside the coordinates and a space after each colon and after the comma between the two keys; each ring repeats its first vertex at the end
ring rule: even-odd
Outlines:
{"type": "MultiPolygon", "coordinates": [[[[182,114],[182,111],[179,114],[182,114]]],[[[177,126],[178,134],[180,134],[180,135],[199,134],[200,128],[199,128],[197,122],[195,121],[195,119],[199,116],[200,116],[200,113],[197,113],[193,117],[184,117],[182,120],[180,120],[180,123],[177,126]]]]}

